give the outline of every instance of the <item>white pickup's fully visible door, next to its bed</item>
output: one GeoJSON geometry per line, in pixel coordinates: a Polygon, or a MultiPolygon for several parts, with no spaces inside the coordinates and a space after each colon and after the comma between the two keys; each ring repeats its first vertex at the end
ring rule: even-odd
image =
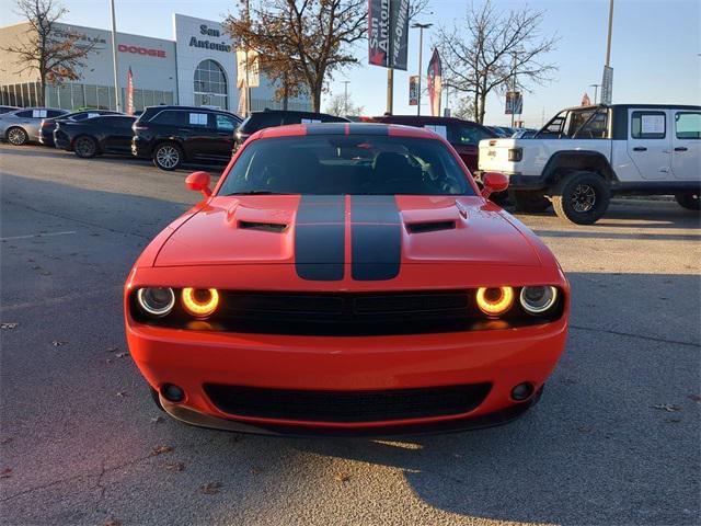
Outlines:
{"type": "Polygon", "coordinates": [[[640,178],[665,181],[671,178],[671,137],[665,110],[629,108],[628,155],[640,178]]]}

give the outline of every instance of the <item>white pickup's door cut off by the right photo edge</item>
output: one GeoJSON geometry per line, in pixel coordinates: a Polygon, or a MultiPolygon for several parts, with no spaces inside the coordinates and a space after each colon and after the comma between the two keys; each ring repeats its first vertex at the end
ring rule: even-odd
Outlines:
{"type": "Polygon", "coordinates": [[[675,179],[701,180],[701,112],[673,110],[671,172],[675,179]]]}

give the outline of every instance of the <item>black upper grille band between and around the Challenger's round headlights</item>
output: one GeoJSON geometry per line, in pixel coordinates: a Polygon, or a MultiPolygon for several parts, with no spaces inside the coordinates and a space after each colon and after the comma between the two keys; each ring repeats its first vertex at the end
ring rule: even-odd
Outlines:
{"type": "MultiPolygon", "coordinates": [[[[180,296],[180,291],[175,291],[180,296]]],[[[487,318],[474,290],[399,293],[271,293],[220,290],[217,311],[204,321],[187,315],[180,301],[163,318],[149,318],[131,295],[134,318],[148,324],[198,331],[308,336],[372,336],[512,329],[547,323],[563,313],[564,301],[542,317],[515,302],[508,315],[487,318]]]]}

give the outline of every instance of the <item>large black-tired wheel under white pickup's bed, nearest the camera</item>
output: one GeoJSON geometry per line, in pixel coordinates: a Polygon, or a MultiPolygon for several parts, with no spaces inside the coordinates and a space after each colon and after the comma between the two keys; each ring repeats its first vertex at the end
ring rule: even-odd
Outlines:
{"type": "Polygon", "coordinates": [[[551,199],[561,219],[576,225],[593,225],[606,214],[611,192],[598,173],[573,172],[554,186],[551,199]]]}

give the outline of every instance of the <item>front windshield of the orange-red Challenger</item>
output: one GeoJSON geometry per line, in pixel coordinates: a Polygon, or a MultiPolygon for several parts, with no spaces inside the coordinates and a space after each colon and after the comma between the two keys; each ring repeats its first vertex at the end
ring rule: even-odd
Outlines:
{"type": "Polygon", "coordinates": [[[308,135],[246,146],[219,190],[219,195],[235,194],[474,195],[474,191],[439,140],[308,135]]]}

